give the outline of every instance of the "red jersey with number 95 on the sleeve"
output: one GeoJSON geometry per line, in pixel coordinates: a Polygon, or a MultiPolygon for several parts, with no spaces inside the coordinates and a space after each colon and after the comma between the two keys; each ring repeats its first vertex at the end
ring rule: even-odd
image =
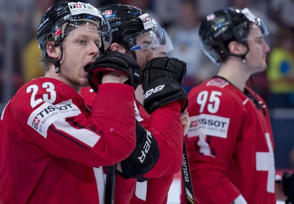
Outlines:
{"type": "Polygon", "coordinates": [[[247,203],[276,203],[269,113],[246,89],[260,105],[219,77],[188,93],[186,143],[195,203],[231,203],[240,194],[247,203]]]}

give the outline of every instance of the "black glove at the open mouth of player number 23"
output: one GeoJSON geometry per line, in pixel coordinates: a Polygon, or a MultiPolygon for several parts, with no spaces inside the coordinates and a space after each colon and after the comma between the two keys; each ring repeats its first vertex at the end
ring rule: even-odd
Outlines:
{"type": "Polygon", "coordinates": [[[132,57],[111,51],[99,56],[95,62],[89,66],[88,81],[90,87],[97,92],[98,86],[101,84],[103,72],[115,71],[125,73],[128,80],[125,84],[133,86],[135,89],[140,83],[141,66],[132,57]]]}

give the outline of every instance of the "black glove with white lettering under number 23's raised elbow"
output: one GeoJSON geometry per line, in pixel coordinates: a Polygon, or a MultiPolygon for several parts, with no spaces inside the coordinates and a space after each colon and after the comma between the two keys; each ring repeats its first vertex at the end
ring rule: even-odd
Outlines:
{"type": "Polygon", "coordinates": [[[119,175],[128,178],[137,178],[147,173],[156,164],[159,158],[159,149],[155,138],[146,131],[136,120],[136,147],[128,158],[121,161],[119,175]]]}

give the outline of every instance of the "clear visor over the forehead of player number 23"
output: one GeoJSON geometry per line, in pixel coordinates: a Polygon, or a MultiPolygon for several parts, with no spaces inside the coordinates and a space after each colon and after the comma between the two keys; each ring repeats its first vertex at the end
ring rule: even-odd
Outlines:
{"type": "Polygon", "coordinates": [[[79,30],[97,31],[103,40],[104,50],[107,50],[111,45],[112,33],[109,24],[106,22],[104,19],[96,16],[88,16],[86,19],[83,16],[76,16],[71,19],[63,18],[53,26],[53,34],[56,39],[62,39],[76,28],[80,28],[79,30]]]}

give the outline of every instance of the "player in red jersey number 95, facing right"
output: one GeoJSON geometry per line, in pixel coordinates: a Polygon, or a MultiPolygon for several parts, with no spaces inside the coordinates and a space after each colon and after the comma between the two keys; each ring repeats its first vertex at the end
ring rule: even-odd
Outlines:
{"type": "Polygon", "coordinates": [[[274,204],[275,187],[281,186],[275,186],[269,113],[246,86],[253,73],[267,68],[267,27],[249,9],[230,7],[208,14],[199,35],[201,48],[220,70],[188,93],[186,142],[195,203],[274,204]]]}

